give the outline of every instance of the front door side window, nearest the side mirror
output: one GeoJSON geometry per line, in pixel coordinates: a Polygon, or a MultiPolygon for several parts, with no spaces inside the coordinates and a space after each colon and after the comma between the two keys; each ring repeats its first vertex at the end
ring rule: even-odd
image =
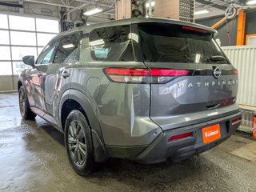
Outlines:
{"type": "Polygon", "coordinates": [[[49,64],[53,62],[52,55],[54,53],[54,48],[57,42],[58,42],[58,38],[54,38],[49,42],[47,46],[45,46],[41,54],[38,56],[36,64],[49,64]]]}

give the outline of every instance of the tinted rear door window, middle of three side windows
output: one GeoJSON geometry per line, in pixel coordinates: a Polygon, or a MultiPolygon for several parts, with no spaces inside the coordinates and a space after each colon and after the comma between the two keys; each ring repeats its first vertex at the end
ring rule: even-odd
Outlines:
{"type": "Polygon", "coordinates": [[[80,42],[80,32],[68,34],[62,37],[58,50],[54,56],[54,63],[77,62],[79,60],[78,44],[80,42]]]}

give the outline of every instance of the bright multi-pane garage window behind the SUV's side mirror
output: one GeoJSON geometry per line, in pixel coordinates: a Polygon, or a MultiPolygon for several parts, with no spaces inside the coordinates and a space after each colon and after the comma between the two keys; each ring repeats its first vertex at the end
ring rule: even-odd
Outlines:
{"type": "Polygon", "coordinates": [[[57,19],[0,14],[0,75],[18,75],[28,67],[22,57],[37,57],[59,33],[57,19]],[[29,38],[28,38],[29,37],[29,38]]]}

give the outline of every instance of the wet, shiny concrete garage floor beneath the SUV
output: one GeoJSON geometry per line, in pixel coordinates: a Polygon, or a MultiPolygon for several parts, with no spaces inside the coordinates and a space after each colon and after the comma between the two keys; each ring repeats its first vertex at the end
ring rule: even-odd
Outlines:
{"type": "Polygon", "coordinates": [[[256,191],[256,142],[241,134],[177,164],[114,159],[82,178],[62,134],[42,118],[21,119],[18,94],[0,94],[0,122],[1,191],[256,191]]]}

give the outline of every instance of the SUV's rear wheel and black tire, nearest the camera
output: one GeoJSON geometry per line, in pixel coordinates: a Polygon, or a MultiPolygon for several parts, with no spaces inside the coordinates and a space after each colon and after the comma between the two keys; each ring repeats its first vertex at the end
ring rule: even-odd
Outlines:
{"type": "Polygon", "coordinates": [[[80,175],[88,175],[94,170],[94,150],[90,126],[84,114],[72,110],[66,118],[65,146],[73,170],[80,175]]]}

